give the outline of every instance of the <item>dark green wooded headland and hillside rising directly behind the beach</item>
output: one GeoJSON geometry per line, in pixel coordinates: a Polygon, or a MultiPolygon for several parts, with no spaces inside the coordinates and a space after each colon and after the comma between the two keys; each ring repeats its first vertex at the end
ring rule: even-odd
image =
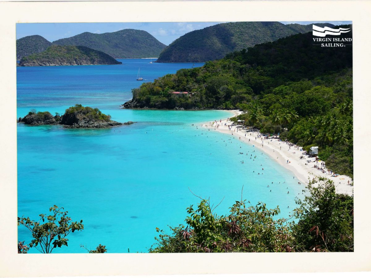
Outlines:
{"type": "Polygon", "coordinates": [[[313,45],[311,32],[144,83],[124,107],[239,108],[245,123],[304,147],[318,145],[330,169],[352,175],[352,46],[313,45]]]}

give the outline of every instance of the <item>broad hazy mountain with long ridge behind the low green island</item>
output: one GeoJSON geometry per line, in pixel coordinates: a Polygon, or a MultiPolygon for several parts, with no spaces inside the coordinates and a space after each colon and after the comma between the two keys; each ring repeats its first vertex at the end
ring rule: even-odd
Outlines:
{"type": "Polygon", "coordinates": [[[86,46],[107,53],[116,59],[158,57],[166,46],[150,33],[134,29],[103,34],[84,32],[66,39],[55,40],[53,44],[86,46]]]}

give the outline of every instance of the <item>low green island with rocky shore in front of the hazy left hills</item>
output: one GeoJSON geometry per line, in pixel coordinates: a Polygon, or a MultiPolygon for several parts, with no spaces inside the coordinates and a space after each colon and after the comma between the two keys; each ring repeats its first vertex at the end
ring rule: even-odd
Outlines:
{"type": "Polygon", "coordinates": [[[85,46],[49,46],[45,51],[23,57],[20,66],[75,66],[122,64],[108,54],[85,46]]]}

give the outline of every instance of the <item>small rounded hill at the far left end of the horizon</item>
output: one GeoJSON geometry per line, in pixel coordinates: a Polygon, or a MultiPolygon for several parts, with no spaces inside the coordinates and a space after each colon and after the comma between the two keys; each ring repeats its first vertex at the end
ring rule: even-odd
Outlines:
{"type": "Polygon", "coordinates": [[[16,44],[17,60],[22,59],[24,56],[42,52],[52,45],[51,42],[39,35],[22,37],[17,40],[16,44]]]}

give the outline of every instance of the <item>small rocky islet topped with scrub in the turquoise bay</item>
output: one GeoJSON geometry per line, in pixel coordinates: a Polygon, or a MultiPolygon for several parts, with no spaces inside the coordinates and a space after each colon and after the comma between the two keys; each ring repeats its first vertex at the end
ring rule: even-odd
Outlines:
{"type": "MultiPolygon", "coordinates": [[[[65,114],[55,116],[50,112],[30,111],[18,122],[24,122],[28,125],[63,125],[65,128],[106,128],[123,125],[121,122],[111,120],[110,115],[103,114],[98,108],[83,107],[76,104],[67,108],[65,114]]],[[[133,124],[134,122],[125,122],[124,125],[133,124]]]]}

